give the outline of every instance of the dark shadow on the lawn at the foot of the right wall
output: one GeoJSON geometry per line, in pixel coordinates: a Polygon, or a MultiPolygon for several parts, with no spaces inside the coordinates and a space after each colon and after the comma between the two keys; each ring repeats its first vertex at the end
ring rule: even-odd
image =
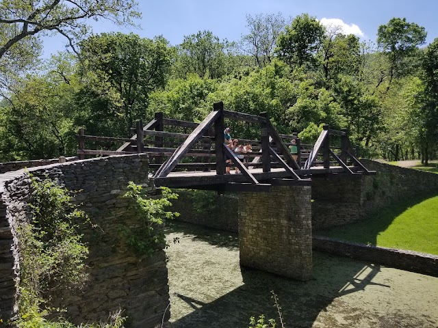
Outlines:
{"type": "Polygon", "coordinates": [[[387,208],[379,209],[369,215],[368,219],[360,222],[348,223],[329,229],[316,230],[314,235],[336,238],[342,241],[352,241],[364,245],[377,245],[377,236],[385,231],[396,217],[404,213],[408,208],[420,204],[433,194],[415,195],[414,197],[392,204],[387,208]]]}

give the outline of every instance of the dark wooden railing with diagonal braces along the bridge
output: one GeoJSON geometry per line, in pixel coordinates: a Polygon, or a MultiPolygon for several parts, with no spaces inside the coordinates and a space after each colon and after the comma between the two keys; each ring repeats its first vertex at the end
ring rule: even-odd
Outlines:
{"type": "Polygon", "coordinates": [[[214,105],[214,111],[201,124],[164,118],[163,113],[155,113],[153,120],[146,125],[143,125],[141,121],[136,122],[134,131],[133,137],[128,139],[85,135],[85,131],[81,128],[77,135],[79,139],[77,153],[81,159],[84,159],[86,155],[111,156],[146,153],[151,157],[151,168],[159,170],[168,166],[165,170],[166,174],[169,169],[179,171],[210,171],[213,169],[216,170],[216,174],[225,174],[227,166],[240,167],[240,164],[244,166],[243,169],[261,167],[263,172],[270,172],[272,168],[277,167],[292,172],[294,169],[309,169],[318,165],[324,168],[336,165],[346,167],[347,163],[359,165],[349,156],[352,154],[352,148],[344,130],[335,131],[329,126],[324,126],[322,135],[315,145],[301,143],[297,133],[292,135],[277,133],[266,113],[251,115],[228,111],[223,108],[222,102],[214,105]],[[235,159],[234,154],[224,148],[224,119],[259,125],[259,139],[240,139],[240,143],[249,143],[253,146],[253,152],[243,154],[244,163],[240,161],[237,163],[237,157],[235,159]],[[165,131],[168,128],[172,131],[165,131]],[[289,152],[292,139],[295,139],[298,148],[296,161],[289,152]],[[85,146],[86,141],[105,144],[121,142],[123,145],[117,150],[90,150],[85,146]],[[183,151],[179,151],[181,146],[184,148],[183,151]],[[347,162],[348,158],[350,162],[347,162]],[[233,163],[227,163],[227,159],[232,159],[233,163]],[[170,160],[172,163],[169,166],[167,162],[170,160]]]}

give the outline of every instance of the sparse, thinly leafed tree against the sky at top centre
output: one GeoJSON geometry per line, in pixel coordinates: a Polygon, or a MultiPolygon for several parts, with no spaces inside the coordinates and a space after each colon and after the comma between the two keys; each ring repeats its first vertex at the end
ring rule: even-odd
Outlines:
{"type": "Polygon", "coordinates": [[[254,58],[257,66],[266,66],[272,61],[276,40],[285,27],[285,18],[281,13],[246,15],[246,27],[249,33],[242,36],[242,49],[254,58]]]}

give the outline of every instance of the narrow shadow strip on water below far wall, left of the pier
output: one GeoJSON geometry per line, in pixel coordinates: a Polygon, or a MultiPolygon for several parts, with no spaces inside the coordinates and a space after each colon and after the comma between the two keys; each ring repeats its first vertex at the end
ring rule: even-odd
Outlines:
{"type": "Polygon", "coordinates": [[[181,221],[166,221],[165,231],[178,232],[193,236],[194,241],[205,241],[212,246],[239,249],[239,235],[235,232],[209,229],[181,221]]]}

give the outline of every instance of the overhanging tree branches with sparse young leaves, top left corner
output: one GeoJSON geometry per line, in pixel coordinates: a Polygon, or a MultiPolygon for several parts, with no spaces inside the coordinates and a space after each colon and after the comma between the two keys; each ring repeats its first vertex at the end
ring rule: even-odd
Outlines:
{"type": "Polygon", "coordinates": [[[0,1],[0,95],[8,97],[21,72],[36,66],[40,36],[58,33],[77,55],[88,36],[90,19],[131,24],[140,14],[135,0],[4,0],[0,1]]]}

